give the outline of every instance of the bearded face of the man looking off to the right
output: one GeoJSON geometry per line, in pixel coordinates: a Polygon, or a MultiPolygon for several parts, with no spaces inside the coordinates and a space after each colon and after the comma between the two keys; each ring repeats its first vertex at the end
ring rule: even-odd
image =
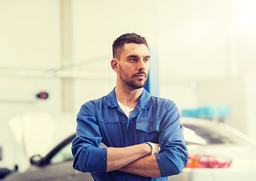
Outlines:
{"type": "Polygon", "coordinates": [[[149,52],[145,44],[123,44],[118,63],[123,84],[133,89],[142,88],[148,79],[149,52]]]}

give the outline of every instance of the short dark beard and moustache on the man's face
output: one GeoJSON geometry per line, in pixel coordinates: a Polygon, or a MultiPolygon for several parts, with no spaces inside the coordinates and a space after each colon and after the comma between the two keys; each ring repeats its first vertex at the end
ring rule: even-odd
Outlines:
{"type": "Polygon", "coordinates": [[[131,77],[125,72],[125,70],[122,68],[122,66],[119,65],[119,77],[129,87],[133,87],[133,89],[139,89],[145,86],[145,82],[148,79],[148,74],[145,71],[139,71],[136,74],[133,74],[131,77]],[[145,78],[138,79],[136,78],[136,75],[138,74],[144,74],[145,78]]]}

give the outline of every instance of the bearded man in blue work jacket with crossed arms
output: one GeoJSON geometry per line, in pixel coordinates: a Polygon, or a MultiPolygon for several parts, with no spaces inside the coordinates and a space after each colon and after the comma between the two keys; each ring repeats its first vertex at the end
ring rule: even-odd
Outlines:
{"type": "Polygon", "coordinates": [[[145,38],[127,33],[112,47],[117,85],[81,107],[73,167],[95,180],[167,180],[188,160],[179,111],[143,88],[150,59],[145,38]]]}

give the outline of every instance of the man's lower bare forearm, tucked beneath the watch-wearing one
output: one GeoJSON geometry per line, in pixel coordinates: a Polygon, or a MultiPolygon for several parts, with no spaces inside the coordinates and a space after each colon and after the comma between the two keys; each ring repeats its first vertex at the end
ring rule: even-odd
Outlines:
{"type": "Polygon", "coordinates": [[[131,164],[121,167],[119,170],[145,177],[161,177],[155,155],[148,155],[140,158],[139,160],[133,161],[131,164]]]}

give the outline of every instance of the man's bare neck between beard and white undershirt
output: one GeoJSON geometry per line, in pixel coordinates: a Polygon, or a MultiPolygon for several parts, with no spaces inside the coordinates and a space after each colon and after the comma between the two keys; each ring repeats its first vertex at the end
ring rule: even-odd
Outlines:
{"type": "Polygon", "coordinates": [[[130,108],[134,108],[139,102],[139,97],[141,96],[142,91],[143,87],[139,89],[134,89],[131,87],[125,88],[122,86],[118,86],[118,84],[115,89],[115,93],[119,102],[122,103],[124,106],[128,106],[130,108]]]}

